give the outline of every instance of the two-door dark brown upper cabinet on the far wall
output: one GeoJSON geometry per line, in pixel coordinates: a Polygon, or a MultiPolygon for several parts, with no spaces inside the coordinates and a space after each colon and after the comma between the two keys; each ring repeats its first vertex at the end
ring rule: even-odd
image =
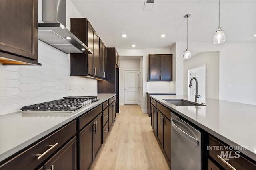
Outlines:
{"type": "Polygon", "coordinates": [[[172,81],[172,54],[148,55],[148,81],[172,81]]]}

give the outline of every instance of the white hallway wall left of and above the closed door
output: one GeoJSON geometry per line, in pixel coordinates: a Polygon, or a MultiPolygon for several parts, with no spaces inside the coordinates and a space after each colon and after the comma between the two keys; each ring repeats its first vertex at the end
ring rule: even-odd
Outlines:
{"type": "MultiPolygon", "coordinates": [[[[119,52],[118,52],[119,53],[119,52]]],[[[119,104],[124,105],[124,70],[138,70],[140,71],[140,58],[138,59],[122,59],[120,57],[119,67],[119,104]]]]}

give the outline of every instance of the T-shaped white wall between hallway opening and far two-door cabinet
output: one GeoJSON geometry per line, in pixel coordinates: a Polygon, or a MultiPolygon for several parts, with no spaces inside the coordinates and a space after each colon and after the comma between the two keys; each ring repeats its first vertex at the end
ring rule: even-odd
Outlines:
{"type": "Polygon", "coordinates": [[[117,51],[120,56],[143,56],[143,100],[141,102],[143,113],[147,113],[146,82],[148,80],[148,54],[170,54],[170,49],[117,49],[117,51]]]}

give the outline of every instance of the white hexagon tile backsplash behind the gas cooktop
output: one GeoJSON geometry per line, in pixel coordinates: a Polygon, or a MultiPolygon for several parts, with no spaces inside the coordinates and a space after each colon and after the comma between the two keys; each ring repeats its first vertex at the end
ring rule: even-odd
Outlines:
{"type": "Polygon", "coordinates": [[[64,96],[97,94],[97,80],[70,76],[69,55],[40,40],[38,63],[42,66],[0,64],[0,115],[64,96]]]}

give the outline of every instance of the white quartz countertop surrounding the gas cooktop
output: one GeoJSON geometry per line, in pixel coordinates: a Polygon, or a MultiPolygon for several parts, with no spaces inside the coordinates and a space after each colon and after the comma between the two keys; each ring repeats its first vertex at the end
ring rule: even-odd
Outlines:
{"type": "Polygon", "coordinates": [[[98,94],[98,101],[74,113],[16,112],[0,116],[0,161],[76,119],[116,94],[98,94]]]}

